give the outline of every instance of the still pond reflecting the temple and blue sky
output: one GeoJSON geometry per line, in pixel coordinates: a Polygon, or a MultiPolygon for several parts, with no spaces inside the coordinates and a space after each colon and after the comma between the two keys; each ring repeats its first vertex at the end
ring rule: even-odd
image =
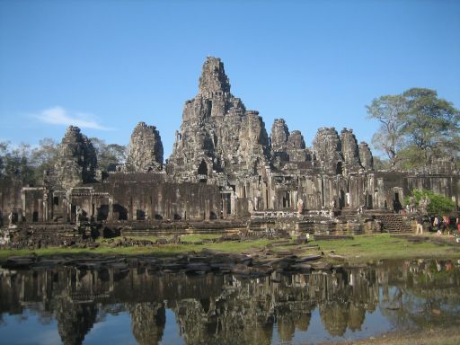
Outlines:
{"type": "Polygon", "coordinates": [[[142,269],[0,271],[4,344],[310,344],[460,323],[457,261],[243,279],[142,269]]]}

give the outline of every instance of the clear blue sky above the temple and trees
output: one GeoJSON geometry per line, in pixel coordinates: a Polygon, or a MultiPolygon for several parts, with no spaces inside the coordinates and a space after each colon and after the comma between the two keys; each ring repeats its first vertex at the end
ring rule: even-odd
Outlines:
{"type": "Polygon", "coordinates": [[[75,125],[128,145],[137,122],[173,149],[206,57],[220,57],[270,135],[286,119],[378,128],[366,105],[411,87],[460,108],[460,1],[0,0],[0,141],[60,141],[75,125]]]}

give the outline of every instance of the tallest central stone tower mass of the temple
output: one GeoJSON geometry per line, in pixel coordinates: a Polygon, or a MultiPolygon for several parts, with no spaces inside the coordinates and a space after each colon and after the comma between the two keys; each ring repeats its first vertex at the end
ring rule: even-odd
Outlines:
{"type": "Polygon", "coordinates": [[[269,138],[259,113],[246,111],[230,93],[224,64],[208,57],[199,93],[185,102],[167,172],[176,181],[198,181],[216,173],[255,173],[269,160],[269,138]]]}

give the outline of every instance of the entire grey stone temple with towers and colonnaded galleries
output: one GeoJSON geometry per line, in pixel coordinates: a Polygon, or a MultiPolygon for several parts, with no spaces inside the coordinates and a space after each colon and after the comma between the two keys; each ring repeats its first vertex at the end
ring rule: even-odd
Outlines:
{"type": "Polygon", "coordinates": [[[67,128],[43,186],[2,186],[3,222],[13,215],[18,225],[85,224],[117,234],[277,227],[355,234],[380,222],[401,232],[411,230],[413,217],[402,212],[411,190],[433,190],[457,207],[460,201],[451,161],[424,172],[376,171],[352,129],[319,128],[307,147],[300,131],[275,119],[269,135],[259,112],[231,92],[217,57],[206,59],[198,93],[185,102],[169,159],[159,131],[140,122],[126,164],[116,173],[96,166],[90,140],[67,128]]]}

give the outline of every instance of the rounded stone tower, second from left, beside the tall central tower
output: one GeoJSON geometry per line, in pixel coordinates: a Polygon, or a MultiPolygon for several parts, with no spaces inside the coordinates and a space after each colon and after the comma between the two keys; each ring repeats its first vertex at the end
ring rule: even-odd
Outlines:
{"type": "Polygon", "coordinates": [[[139,122],[129,140],[126,170],[133,173],[161,171],[163,168],[163,143],[155,126],[139,122]]]}

